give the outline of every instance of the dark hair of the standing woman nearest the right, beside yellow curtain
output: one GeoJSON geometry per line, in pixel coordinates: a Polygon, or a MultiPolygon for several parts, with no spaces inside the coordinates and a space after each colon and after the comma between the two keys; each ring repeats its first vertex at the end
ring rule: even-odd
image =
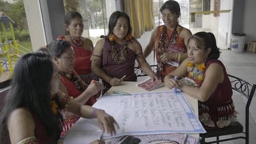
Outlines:
{"type": "Polygon", "coordinates": [[[163,6],[160,8],[160,12],[163,13],[164,9],[168,9],[173,12],[173,14],[181,15],[181,8],[179,7],[179,3],[177,1],[166,1],[163,6]]]}

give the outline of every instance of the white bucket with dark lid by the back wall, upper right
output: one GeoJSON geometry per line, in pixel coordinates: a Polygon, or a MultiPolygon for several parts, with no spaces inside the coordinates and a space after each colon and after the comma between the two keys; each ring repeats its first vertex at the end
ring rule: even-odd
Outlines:
{"type": "Polygon", "coordinates": [[[231,51],[234,53],[244,52],[245,33],[233,33],[231,38],[231,51]]]}

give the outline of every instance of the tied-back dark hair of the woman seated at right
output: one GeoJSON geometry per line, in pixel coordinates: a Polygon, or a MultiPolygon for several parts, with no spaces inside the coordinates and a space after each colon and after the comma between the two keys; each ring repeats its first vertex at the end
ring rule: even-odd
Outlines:
{"type": "Polygon", "coordinates": [[[210,48],[211,52],[207,56],[207,60],[210,59],[218,59],[220,57],[220,51],[216,45],[216,39],[213,33],[207,33],[207,32],[198,32],[195,33],[193,36],[191,36],[187,43],[191,39],[195,40],[195,43],[197,44],[198,48],[200,49],[207,49],[210,48]]]}

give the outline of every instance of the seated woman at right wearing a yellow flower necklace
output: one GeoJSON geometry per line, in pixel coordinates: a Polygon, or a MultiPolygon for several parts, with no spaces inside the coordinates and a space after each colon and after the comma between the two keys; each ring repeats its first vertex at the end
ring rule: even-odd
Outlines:
{"type": "Polygon", "coordinates": [[[188,58],[164,77],[168,88],[179,88],[198,100],[199,119],[205,129],[226,127],[236,121],[233,92],[213,33],[198,32],[189,38],[188,58]],[[182,80],[174,80],[174,76],[182,80]]]}

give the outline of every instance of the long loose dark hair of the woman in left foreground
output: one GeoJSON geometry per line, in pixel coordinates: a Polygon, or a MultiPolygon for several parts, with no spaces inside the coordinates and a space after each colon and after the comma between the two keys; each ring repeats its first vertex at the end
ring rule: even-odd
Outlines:
{"type": "Polygon", "coordinates": [[[53,140],[59,139],[59,120],[51,109],[53,62],[43,51],[27,53],[15,65],[11,89],[0,115],[0,142],[10,143],[7,121],[17,108],[28,109],[40,118],[53,140]]]}

